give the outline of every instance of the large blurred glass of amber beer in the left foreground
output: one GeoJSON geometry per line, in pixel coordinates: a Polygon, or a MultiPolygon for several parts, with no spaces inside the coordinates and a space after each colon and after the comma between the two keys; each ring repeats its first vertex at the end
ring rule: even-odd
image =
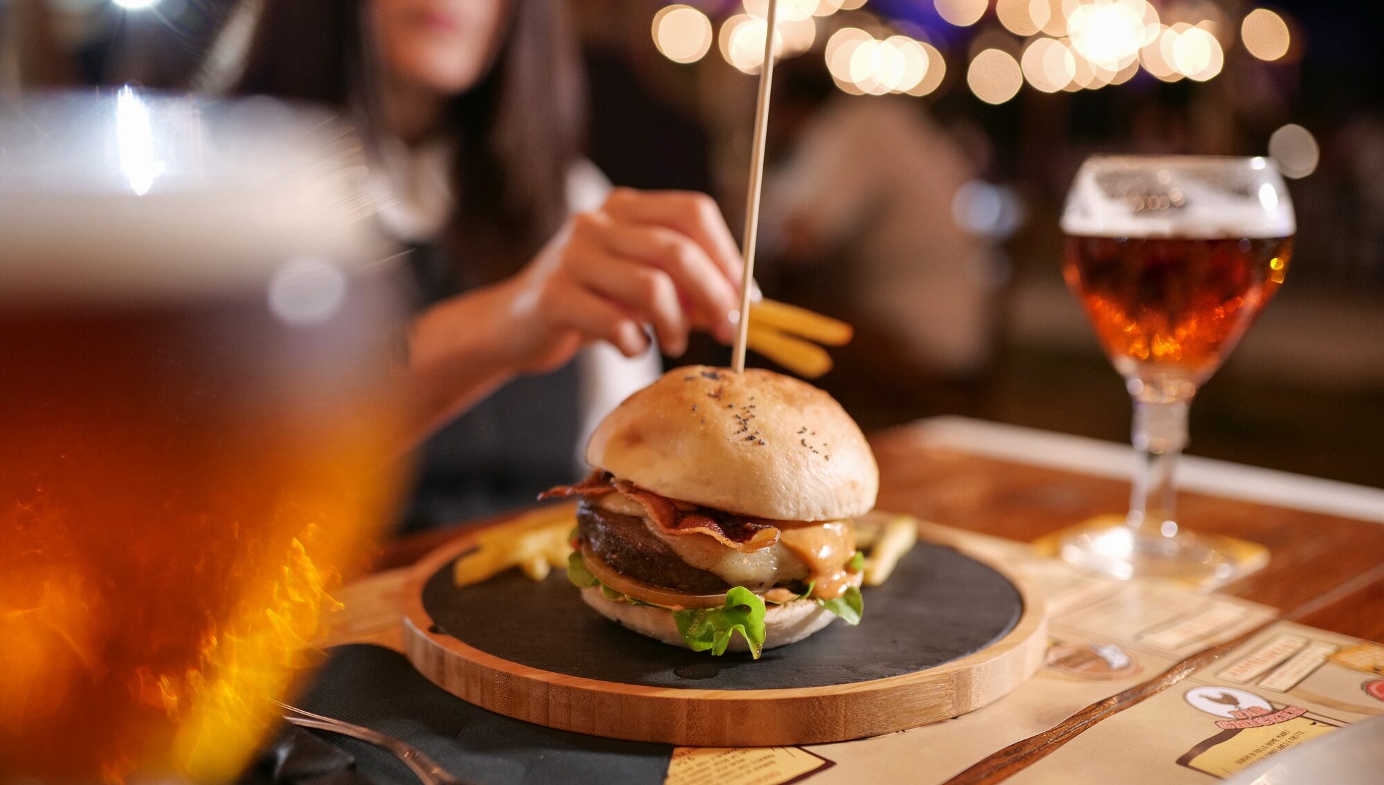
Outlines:
{"type": "Polygon", "coordinates": [[[403,480],[358,145],[0,105],[0,784],[233,778],[403,480]]]}

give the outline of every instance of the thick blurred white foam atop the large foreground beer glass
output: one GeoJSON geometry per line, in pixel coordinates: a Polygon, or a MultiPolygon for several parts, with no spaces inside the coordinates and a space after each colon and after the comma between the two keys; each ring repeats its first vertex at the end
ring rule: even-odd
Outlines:
{"type": "Polygon", "coordinates": [[[50,95],[0,109],[0,296],[195,296],[389,245],[358,142],[267,100],[50,95]]]}

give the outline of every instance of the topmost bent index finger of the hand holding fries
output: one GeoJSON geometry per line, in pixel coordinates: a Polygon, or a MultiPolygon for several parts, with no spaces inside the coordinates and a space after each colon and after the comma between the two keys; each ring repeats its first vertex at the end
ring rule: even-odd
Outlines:
{"type": "Polygon", "coordinates": [[[632,224],[655,224],[686,235],[716,263],[734,292],[740,290],[743,261],[720,207],[695,191],[634,191],[616,188],[602,210],[632,224]]]}

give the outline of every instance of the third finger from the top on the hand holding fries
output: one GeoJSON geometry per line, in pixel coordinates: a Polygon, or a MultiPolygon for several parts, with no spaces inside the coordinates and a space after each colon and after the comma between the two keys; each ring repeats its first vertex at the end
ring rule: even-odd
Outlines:
{"type": "Polygon", "coordinates": [[[664,352],[678,357],[686,351],[692,323],[667,272],[602,249],[587,249],[567,274],[597,294],[614,300],[621,310],[652,323],[664,352]]]}

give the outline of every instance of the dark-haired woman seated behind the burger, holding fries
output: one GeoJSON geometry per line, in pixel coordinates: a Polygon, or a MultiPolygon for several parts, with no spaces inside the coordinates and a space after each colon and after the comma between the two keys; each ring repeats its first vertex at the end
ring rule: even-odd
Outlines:
{"type": "MultiPolygon", "coordinates": [[[[392,195],[379,220],[412,250],[418,408],[447,424],[406,525],[569,481],[590,430],[660,372],[645,325],[668,355],[692,329],[732,339],[740,258],[710,198],[612,191],[580,158],[565,4],[241,0],[217,15],[188,84],[339,109],[392,195]]],[[[138,39],[113,76],[166,82],[138,39]]]]}

